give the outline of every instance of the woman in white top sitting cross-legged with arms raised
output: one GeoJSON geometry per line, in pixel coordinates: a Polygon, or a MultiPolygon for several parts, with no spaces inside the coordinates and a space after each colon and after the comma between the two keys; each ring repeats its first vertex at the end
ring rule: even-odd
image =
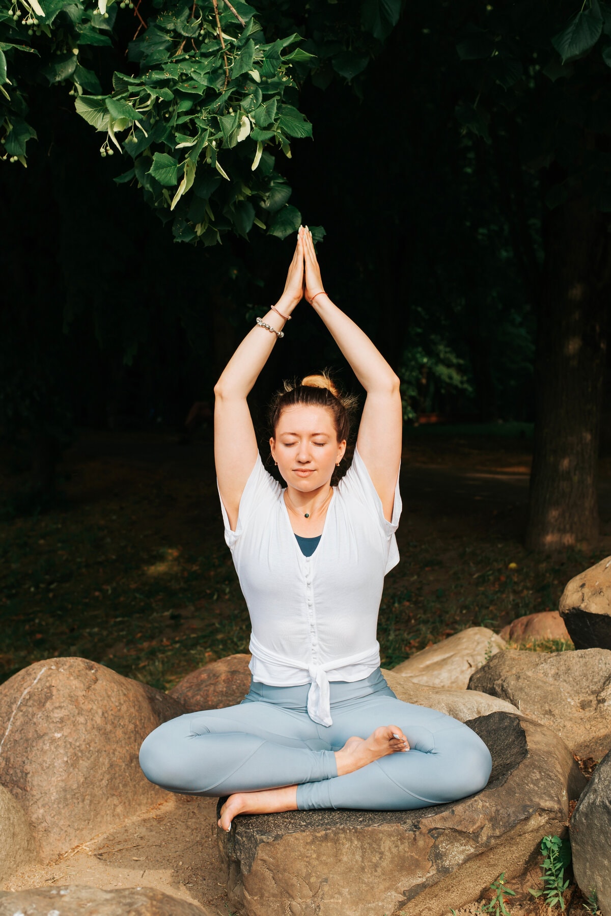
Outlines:
{"type": "Polygon", "coordinates": [[[450,716],[401,703],[379,668],[377,611],[398,563],[398,377],[322,287],[300,227],[284,292],[214,388],[214,457],[251,616],[252,682],[227,709],[181,715],[147,736],[140,764],[169,791],[228,795],[236,814],[452,802],[486,785],[490,753],[450,716]],[[267,474],[246,396],[305,296],[366,389],[353,462],[331,479],[347,412],[323,376],[278,395],[269,440],[286,488],[267,474]]]}

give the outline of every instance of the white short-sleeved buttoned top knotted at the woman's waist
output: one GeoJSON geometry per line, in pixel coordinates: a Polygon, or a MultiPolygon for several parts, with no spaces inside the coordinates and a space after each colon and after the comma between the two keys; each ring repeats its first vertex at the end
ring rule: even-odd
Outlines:
{"type": "Polygon", "coordinates": [[[332,725],[330,681],[360,681],[380,663],[377,612],[384,576],[398,563],[398,479],[392,521],[360,454],[327,507],[322,537],[305,557],[283,489],[259,455],[240,500],[235,531],[221,500],[225,541],[250,614],[253,681],[311,682],[308,713],[332,725]]]}

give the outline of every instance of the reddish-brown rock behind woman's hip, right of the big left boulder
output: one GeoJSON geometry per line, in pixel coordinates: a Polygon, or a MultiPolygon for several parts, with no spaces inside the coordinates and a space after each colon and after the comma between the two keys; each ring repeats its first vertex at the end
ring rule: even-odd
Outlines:
{"type": "Polygon", "coordinates": [[[222,709],[242,703],[250,689],[250,655],[228,655],[225,659],[211,661],[204,668],[191,671],[169,696],[179,700],[188,713],[202,709],[222,709]]]}

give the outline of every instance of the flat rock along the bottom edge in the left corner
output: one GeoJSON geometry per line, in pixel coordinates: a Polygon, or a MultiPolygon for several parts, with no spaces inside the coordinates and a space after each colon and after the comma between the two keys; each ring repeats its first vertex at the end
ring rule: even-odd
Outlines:
{"type": "Polygon", "coordinates": [[[0,891],[0,916],[202,916],[195,903],[152,888],[101,890],[82,884],[0,891]]]}

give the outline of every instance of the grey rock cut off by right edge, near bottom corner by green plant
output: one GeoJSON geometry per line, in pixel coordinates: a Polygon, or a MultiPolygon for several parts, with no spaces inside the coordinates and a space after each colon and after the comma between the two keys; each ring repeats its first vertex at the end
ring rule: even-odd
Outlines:
{"type": "Polygon", "coordinates": [[[587,896],[596,890],[598,907],[611,914],[611,753],[600,761],[577,807],[569,829],[573,872],[587,896]]]}

